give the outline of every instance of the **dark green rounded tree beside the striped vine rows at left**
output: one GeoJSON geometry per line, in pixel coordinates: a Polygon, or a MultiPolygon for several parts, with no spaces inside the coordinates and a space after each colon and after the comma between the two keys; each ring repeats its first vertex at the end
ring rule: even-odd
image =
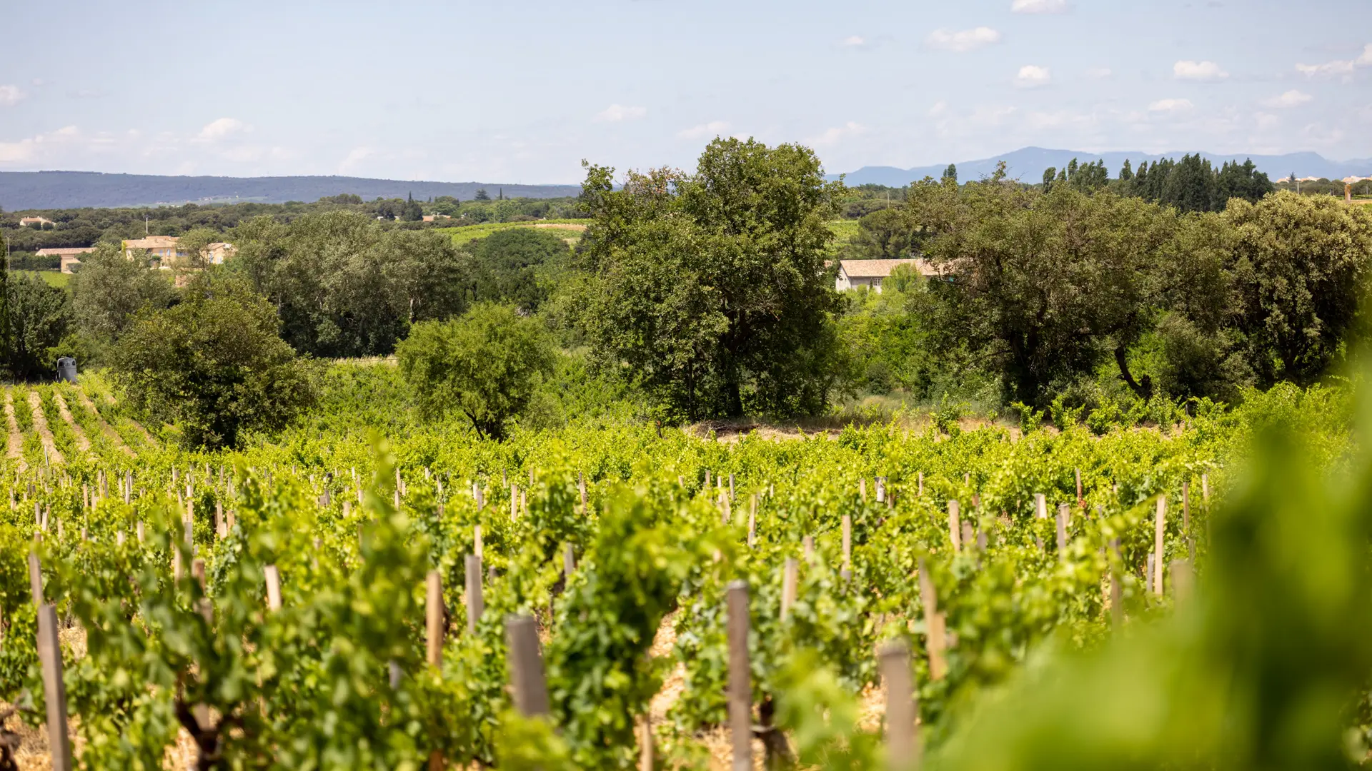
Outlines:
{"type": "Polygon", "coordinates": [[[196,276],[180,305],[144,310],[114,351],[115,379],[189,447],[284,428],[314,401],[310,368],[277,336],[276,309],[246,283],[196,276]]]}

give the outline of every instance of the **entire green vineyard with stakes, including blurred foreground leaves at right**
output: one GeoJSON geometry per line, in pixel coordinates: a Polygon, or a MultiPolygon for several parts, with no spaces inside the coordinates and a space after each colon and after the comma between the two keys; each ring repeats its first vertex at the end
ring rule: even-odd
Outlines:
{"type": "Polygon", "coordinates": [[[1334,697],[1316,749],[1244,734],[1369,664],[1336,516],[1365,506],[1318,482],[1354,462],[1342,387],[1161,428],[488,442],[386,365],[328,380],[215,454],[99,377],[7,388],[0,767],[1028,768],[1061,735],[1080,767],[1253,767],[1368,722],[1334,697]],[[1250,457],[1272,424],[1295,446],[1250,457]]]}

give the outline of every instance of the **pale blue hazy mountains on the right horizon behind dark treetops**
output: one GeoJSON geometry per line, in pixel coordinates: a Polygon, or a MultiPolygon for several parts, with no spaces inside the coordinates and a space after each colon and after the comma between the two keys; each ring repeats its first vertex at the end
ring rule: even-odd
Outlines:
{"type": "MultiPolygon", "coordinates": [[[[1078,163],[1095,163],[1096,161],[1104,161],[1106,167],[1110,170],[1110,177],[1120,174],[1120,167],[1124,166],[1125,159],[1137,169],[1139,163],[1143,161],[1161,161],[1163,158],[1180,159],[1185,152],[1163,152],[1159,155],[1152,155],[1148,152],[1081,152],[1076,150],[1045,150],[1041,147],[1024,147],[1014,152],[1006,152],[1004,155],[996,155],[995,158],[982,158],[980,161],[958,161],[958,180],[966,182],[970,180],[980,180],[981,177],[989,177],[996,170],[996,163],[1000,161],[1006,162],[1006,171],[1011,178],[1018,178],[1025,182],[1037,182],[1043,180],[1043,171],[1050,166],[1062,169],[1072,162],[1073,158],[1078,163]]],[[[1353,161],[1329,161],[1316,152],[1290,152],[1287,155],[1250,155],[1246,152],[1202,152],[1202,158],[1207,158],[1210,163],[1222,165],[1225,161],[1243,162],[1249,158],[1258,167],[1259,171],[1265,171],[1272,181],[1277,181],[1290,177],[1292,173],[1297,177],[1327,177],[1329,180],[1342,180],[1343,177],[1368,177],[1372,176],[1372,158],[1357,158],[1353,161]]],[[[849,171],[844,174],[844,182],[848,185],[889,185],[889,187],[904,187],[910,182],[919,181],[925,177],[938,178],[943,176],[944,169],[948,165],[943,163],[938,166],[916,166],[914,169],[897,169],[895,166],[863,166],[856,171],[849,171]]],[[[837,174],[830,174],[831,180],[837,180],[837,174]]]]}

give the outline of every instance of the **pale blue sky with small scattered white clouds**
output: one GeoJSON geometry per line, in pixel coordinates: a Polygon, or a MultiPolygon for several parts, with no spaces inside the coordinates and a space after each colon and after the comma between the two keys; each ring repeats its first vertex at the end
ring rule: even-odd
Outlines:
{"type": "Polygon", "coordinates": [[[565,184],[715,136],[830,173],[1372,156],[1372,0],[45,0],[5,37],[0,170],[565,184]]]}

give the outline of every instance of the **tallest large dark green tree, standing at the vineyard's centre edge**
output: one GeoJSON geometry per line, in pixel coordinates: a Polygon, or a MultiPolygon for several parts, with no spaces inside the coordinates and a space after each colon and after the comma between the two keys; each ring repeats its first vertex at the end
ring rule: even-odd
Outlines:
{"type": "Polygon", "coordinates": [[[823,407],[841,309],[837,182],[800,145],[716,139],[694,174],[587,166],[582,325],[602,365],[698,420],[823,407]]]}

